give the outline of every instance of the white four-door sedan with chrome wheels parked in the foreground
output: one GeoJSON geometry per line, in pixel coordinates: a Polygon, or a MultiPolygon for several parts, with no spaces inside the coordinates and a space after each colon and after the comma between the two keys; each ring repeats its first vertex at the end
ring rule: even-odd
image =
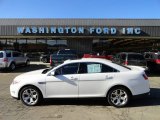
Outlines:
{"type": "Polygon", "coordinates": [[[11,96],[28,106],[43,98],[106,97],[110,105],[123,107],[133,96],[149,92],[149,81],[141,68],[99,58],[67,60],[52,69],[24,73],[10,85],[11,96]]]}

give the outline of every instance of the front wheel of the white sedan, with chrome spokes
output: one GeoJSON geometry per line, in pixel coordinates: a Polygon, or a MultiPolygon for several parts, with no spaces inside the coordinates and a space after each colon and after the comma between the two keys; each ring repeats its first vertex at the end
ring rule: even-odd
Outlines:
{"type": "Polygon", "coordinates": [[[40,103],[42,97],[41,92],[33,86],[24,87],[20,91],[20,99],[27,106],[36,106],[40,103]]]}

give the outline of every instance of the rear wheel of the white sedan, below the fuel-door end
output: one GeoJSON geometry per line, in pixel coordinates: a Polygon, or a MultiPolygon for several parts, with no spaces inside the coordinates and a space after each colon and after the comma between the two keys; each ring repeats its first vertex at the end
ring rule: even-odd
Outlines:
{"type": "Polygon", "coordinates": [[[108,103],[117,108],[126,106],[130,98],[131,94],[125,87],[114,87],[107,95],[108,103]]]}

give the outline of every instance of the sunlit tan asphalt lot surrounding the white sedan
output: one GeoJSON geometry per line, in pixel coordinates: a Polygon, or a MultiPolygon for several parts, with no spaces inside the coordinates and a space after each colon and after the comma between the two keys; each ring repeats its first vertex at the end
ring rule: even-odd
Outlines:
{"type": "Polygon", "coordinates": [[[148,75],[149,97],[132,100],[128,107],[119,109],[109,106],[104,99],[50,99],[27,107],[10,96],[14,77],[47,66],[32,63],[14,72],[0,71],[0,120],[160,120],[160,73],[148,75]]]}

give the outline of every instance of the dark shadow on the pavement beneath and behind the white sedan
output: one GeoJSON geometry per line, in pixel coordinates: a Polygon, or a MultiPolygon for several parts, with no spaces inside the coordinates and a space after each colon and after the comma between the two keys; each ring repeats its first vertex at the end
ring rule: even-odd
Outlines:
{"type": "MultiPolygon", "coordinates": [[[[85,106],[109,106],[105,98],[82,98],[82,99],[45,99],[41,106],[50,105],[85,105],[85,106]]],[[[143,107],[143,106],[160,106],[160,88],[151,88],[151,94],[147,97],[131,100],[128,106],[143,107]]]]}

